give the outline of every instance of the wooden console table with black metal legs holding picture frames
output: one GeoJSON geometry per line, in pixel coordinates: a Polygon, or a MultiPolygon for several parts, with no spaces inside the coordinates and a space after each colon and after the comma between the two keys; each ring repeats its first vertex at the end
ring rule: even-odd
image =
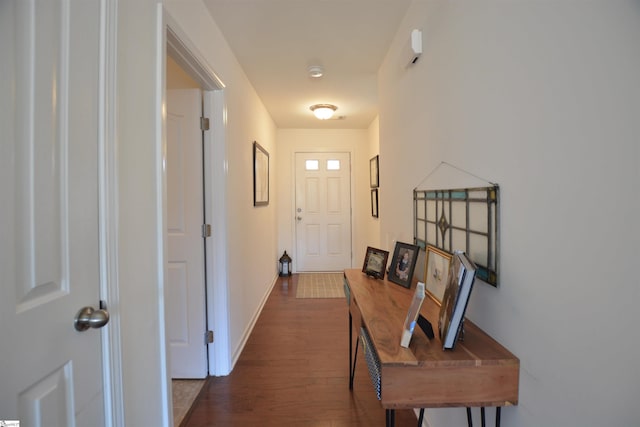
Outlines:
{"type": "Polygon", "coordinates": [[[378,394],[388,427],[394,424],[395,409],[467,407],[469,419],[470,407],[518,404],[519,359],[472,322],[465,320],[464,341],[454,350],[443,350],[437,332],[440,307],[427,297],[420,314],[431,322],[436,337],[429,341],[416,327],[409,348],[403,348],[400,338],[415,284],[406,289],[351,269],[344,271],[344,286],[349,304],[349,388],[353,389],[358,352],[356,342],[354,356],[355,331],[370,353],[367,357],[377,359],[378,394]]]}

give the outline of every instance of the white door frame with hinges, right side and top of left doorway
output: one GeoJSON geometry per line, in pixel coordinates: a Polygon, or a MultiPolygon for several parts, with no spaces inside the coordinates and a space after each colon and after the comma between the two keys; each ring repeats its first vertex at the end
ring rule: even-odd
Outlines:
{"type": "MultiPolygon", "coordinates": [[[[216,75],[177,22],[164,13],[166,51],[202,88],[203,113],[210,131],[204,132],[205,222],[212,237],[205,240],[207,270],[207,329],[215,332],[208,348],[209,375],[231,372],[228,322],[227,273],[227,150],[225,128],[225,85],[216,75]]],[[[163,64],[166,63],[163,53],[163,64]]],[[[166,320],[166,319],[165,319],[166,320]]],[[[167,349],[168,350],[168,349],[167,349]]]]}

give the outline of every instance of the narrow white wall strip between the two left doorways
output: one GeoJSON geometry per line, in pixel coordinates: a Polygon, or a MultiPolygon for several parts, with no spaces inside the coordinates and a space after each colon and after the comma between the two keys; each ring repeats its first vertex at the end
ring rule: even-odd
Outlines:
{"type": "MultiPolygon", "coordinates": [[[[152,0],[118,2],[117,175],[118,291],[124,421],[166,425],[163,228],[158,73],[158,10],[152,0]]],[[[106,108],[112,108],[106,106],[106,108]]]]}

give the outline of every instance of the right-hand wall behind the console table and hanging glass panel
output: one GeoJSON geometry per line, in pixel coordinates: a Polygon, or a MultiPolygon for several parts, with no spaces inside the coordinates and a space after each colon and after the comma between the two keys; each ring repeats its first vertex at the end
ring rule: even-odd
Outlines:
{"type": "Polygon", "coordinates": [[[640,425],[639,46],[638,1],[416,0],[380,69],[383,240],[442,161],[500,185],[500,287],[469,315],[520,358],[503,425],[640,425]]]}

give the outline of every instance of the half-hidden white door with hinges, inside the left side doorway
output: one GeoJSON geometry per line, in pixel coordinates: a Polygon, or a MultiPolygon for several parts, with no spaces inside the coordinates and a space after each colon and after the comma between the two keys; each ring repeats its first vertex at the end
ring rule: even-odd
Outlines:
{"type": "Polygon", "coordinates": [[[200,89],[167,91],[167,331],[172,378],[205,378],[203,150],[200,89]]]}

